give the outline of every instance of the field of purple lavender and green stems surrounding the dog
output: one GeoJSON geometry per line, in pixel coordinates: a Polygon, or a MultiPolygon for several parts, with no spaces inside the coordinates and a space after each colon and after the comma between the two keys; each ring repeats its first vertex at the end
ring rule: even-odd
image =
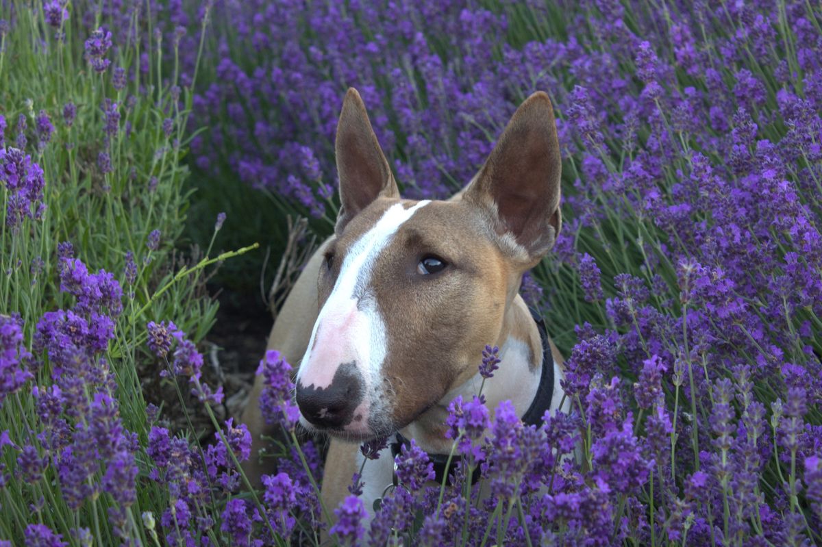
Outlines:
{"type": "Polygon", "coordinates": [[[822,545],[820,114],[806,0],[0,0],[0,545],[822,545]],[[378,508],[323,507],[276,352],[254,488],[209,342],[333,232],[349,86],[409,198],[537,90],[563,161],[521,293],[570,414],[455,400],[454,480],[404,449],[378,508]]]}

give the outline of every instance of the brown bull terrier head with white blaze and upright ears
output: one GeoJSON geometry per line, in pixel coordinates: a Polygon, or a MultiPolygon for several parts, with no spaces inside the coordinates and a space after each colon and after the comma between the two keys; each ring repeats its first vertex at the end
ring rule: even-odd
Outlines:
{"type": "Polygon", "coordinates": [[[353,89],[336,155],[342,208],[297,402],[303,425],[368,439],[467,381],[501,337],[522,274],[559,232],[561,159],[551,101],[536,93],[461,195],[403,200],[353,89]]]}

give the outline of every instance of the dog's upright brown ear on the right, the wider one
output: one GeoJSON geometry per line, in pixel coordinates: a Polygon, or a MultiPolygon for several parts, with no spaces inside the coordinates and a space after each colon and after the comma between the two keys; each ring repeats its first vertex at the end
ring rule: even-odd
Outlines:
{"type": "Polygon", "coordinates": [[[561,158],[551,99],[542,91],[517,108],[463,199],[490,211],[536,263],[560,231],[561,158]]]}

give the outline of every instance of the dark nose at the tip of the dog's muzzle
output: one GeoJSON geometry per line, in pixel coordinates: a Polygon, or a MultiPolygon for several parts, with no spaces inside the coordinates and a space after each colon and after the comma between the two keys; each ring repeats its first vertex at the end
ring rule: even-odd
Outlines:
{"type": "Polygon", "coordinates": [[[363,375],[352,361],[339,365],[327,388],[297,382],[297,404],[302,416],[317,427],[339,429],[356,419],[354,409],[363,400],[363,375]]]}

